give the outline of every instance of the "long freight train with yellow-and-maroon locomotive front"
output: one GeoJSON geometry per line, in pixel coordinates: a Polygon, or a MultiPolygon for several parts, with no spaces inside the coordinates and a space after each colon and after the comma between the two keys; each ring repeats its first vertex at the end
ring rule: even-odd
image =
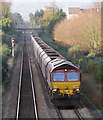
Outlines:
{"type": "Polygon", "coordinates": [[[35,57],[47,81],[51,99],[66,97],[70,100],[80,100],[79,68],[48,46],[40,37],[31,35],[31,41],[35,57]]]}

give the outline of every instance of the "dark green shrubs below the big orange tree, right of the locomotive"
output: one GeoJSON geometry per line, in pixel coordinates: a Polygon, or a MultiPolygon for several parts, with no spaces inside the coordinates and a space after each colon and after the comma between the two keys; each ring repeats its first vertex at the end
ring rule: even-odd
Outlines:
{"type": "Polygon", "coordinates": [[[103,62],[95,61],[93,58],[81,58],[78,61],[82,72],[93,73],[97,82],[103,83],[103,62]]]}

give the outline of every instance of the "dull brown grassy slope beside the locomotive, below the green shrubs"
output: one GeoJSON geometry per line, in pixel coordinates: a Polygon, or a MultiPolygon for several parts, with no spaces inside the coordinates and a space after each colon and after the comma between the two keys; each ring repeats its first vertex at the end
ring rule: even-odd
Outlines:
{"type": "Polygon", "coordinates": [[[81,90],[89,96],[89,98],[101,108],[101,84],[97,84],[93,74],[82,74],[81,90]]]}

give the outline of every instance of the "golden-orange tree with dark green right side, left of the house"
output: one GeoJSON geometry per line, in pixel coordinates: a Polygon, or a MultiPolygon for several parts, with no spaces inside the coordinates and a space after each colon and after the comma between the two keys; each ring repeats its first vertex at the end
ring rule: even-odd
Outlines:
{"type": "Polygon", "coordinates": [[[49,34],[52,34],[56,23],[64,19],[65,16],[66,14],[63,12],[63,10],[58,9],[56,6],[46,7],[46,10],[44,11],[44,15],[42,18],[43,21],[42,23],[44,26],[46,26],[46,31],[48,31],[49,34]]]}

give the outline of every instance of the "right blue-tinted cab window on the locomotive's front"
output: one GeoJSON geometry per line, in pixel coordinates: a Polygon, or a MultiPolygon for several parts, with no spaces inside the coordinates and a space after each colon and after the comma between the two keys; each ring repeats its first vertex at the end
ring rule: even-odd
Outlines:
{"type": "Polygon", "coordinates": [[[68,79],[68,81],[78,81],[79,74],[77,72],[68,72],[67,79],[68,79]]]}

